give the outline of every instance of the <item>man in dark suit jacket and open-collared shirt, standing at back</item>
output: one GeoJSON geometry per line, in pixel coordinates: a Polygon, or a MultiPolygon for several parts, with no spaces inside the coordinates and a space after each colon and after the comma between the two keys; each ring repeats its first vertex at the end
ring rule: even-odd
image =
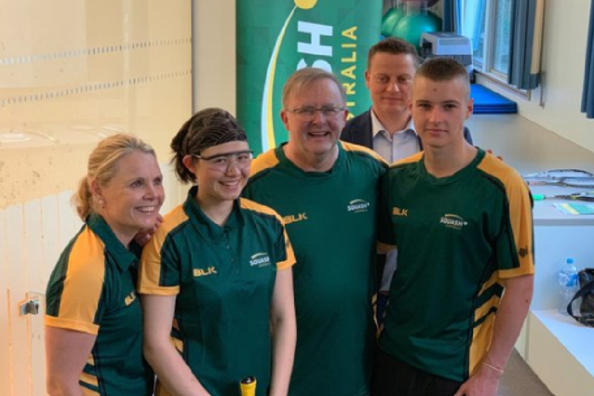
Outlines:
{"type": "MultiPolygon", "coordinates": [[[[416,48],[405,40],[387,37],[372,46],[365,71],[371,109],[350,119],[340,139],[371,148],[388,163],[423,150],[408,108],[412,79],[418,66],[416,48]]],[[[472,144],[472,137],[466,127],[464,137],[472,144]]],[[[396,255],[397,252],[392,251],[386,259],[384,256],[378,257],[378,324],[383,320],[387,291],[396,269],[396,255]]]]}

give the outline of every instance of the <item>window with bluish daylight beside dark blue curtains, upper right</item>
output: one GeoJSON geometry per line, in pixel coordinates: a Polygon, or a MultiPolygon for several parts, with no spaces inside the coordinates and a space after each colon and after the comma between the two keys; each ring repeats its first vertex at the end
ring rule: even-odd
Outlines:
{"type": "Polygon", "coordinates": [[[512,0],[462,0],[462,34],[476,71],[507,84],[512,0]]]}

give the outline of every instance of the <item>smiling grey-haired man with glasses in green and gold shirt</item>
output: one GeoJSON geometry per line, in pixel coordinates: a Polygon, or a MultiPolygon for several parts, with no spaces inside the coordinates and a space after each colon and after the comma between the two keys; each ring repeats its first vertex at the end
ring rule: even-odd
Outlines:
{"type": "Polygon", "coordinates": [[[253,161],[244,194],[284,218],[295,251],[289,395],[368,395],[378,182],[387,164],[338,140],[347,110],[333,74],[295,72],[282,102],[289,141],[253,161]]]}

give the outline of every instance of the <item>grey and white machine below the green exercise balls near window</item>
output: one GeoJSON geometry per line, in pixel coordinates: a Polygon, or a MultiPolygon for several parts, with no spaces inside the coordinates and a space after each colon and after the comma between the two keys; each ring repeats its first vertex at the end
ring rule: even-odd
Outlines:
{"type": "Polygon", "coordinates": [[[469,77],[472,77],[472,44],[468,37],[445,31],[423,33],[421,36],[421,57],[428,59],[434,56],[447,56],[456,59],[466,67],[469,77]]]}

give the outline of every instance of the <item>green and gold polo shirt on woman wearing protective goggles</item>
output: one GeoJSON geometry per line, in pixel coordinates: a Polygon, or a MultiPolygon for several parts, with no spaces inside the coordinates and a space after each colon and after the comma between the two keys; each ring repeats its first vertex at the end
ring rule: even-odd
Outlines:
{"type": "Polygon", "coordinates": [[[219,226],[196,194],[191,188],[144,247],[138,292],[176,296],[173,343],[212,396],[237,394],[247,376],[264,396],[276,271],[295,262],[285,227],[273,210],[243,198],[219,226]]]}

